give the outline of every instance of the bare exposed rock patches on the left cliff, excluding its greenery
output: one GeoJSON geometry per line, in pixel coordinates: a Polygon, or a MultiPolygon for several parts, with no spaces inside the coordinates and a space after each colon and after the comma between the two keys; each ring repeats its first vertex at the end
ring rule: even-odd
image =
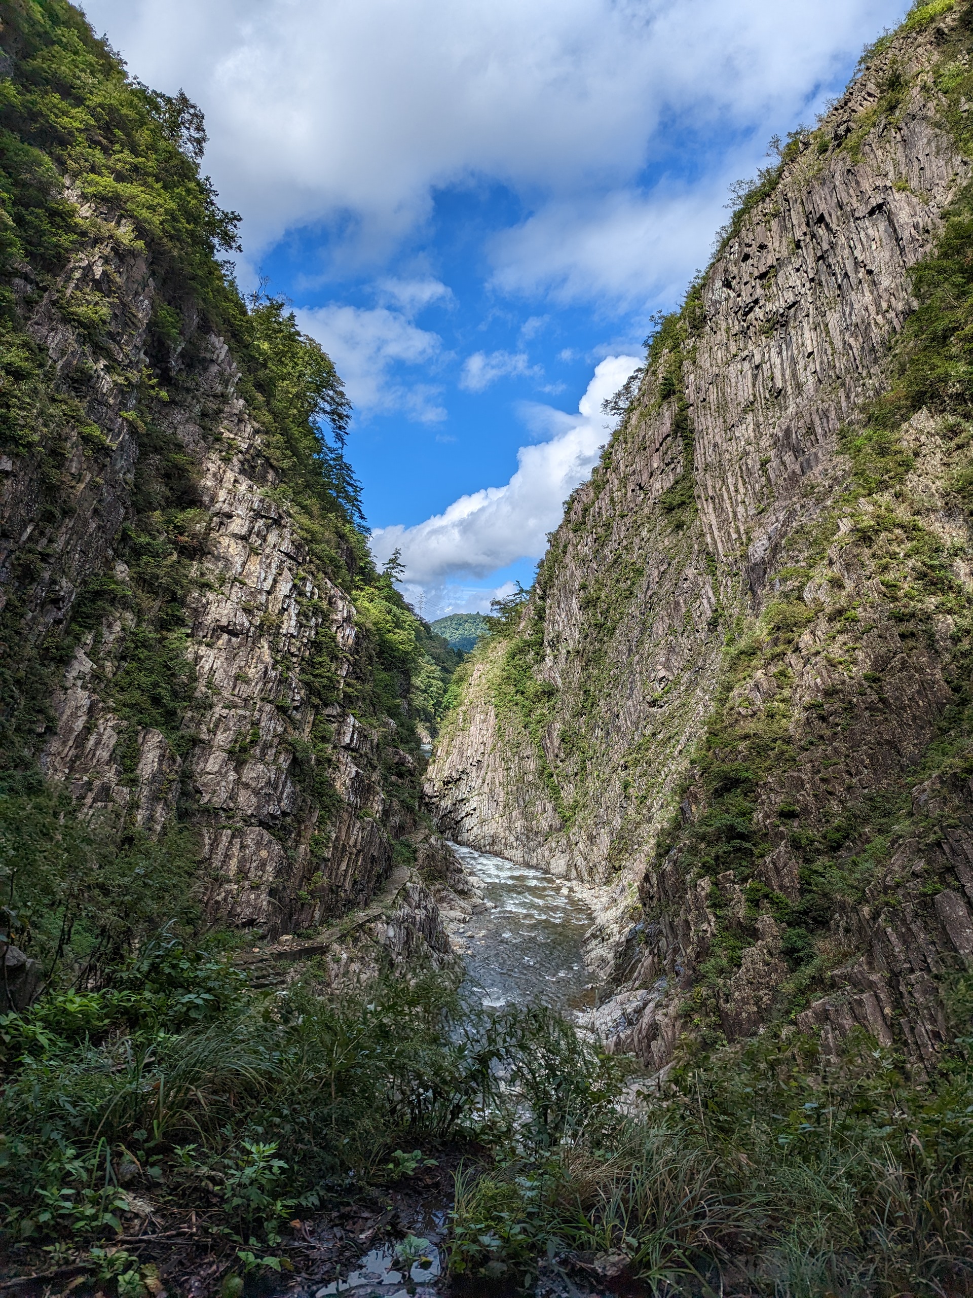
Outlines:
{"type": "MultiPolygon", "coordinates": [[[[115,269],[127,280],[134,267],[115,269]]],[[[148,275],[140,287],[150,305],[148,275]]],[[[49,336],[47,341],[51,347],[49,336]]],[[[71,363],[75,340],[60,341],[64,350],[57,358],[71,363]]],[[[136,358],[144,344],[138,331],[113,341],[136,358]]],[[[47,552],[47,563],[29,593],[25,633],[42,639],[52,624],[70,619],[92,571],[112,574],[122,609],[84,633],[74,649],[51,697],[53,722],[40,763],[48,776],[71,787],[84,809],[121,813],[152,833],[179,813],[180,800],[191,805],[209,866],[210,912],[289,931],[320,918],[322,898],[317,906],[296,901],[311,875],[322,875],[318,890],[327,887],[342,898],[365,900],[388,871],[389,833],[397,836],[396,829],[406,832],[410,826],[400,809],[385,815],[381,780],[374,774],[380,740],[388,736],[359,724],[344,698],[349,672],[366,670],[355,654],[355,606],[346,592],[315,572],[287,506],[274,500],[280,479],[263,459],[259,428],[236,396],[239,375],[226,345],[213,336],[201,343],[209,360],[183,384],[182,400],[170,397],[158,426],[192,462],[193,508],[202,515],[193,535],[198,557],[192,561],[180,628],[184,665],[178,667],[187,697],[178,739],[174,742],[161,729],[136,722],[127,727],[134,732],[126,744],[125,723],[105,688],[123,667],[128,637],[139,626],[138,615],[123,609],[131,570],[115,544],[119,523],[132,514],[139,448],[119,418],[123,393],[106,384],[101,396],[108,410],[99,427],[104,430],[112,417],[118,423],[101,498],[86,500],[91,466],[75,445],[69,452],[67,489],[77,511],[70,519],[58,518],[35,541],[47,552]],[[206,439],[195,409],[200,391],[214,404],[215,434],[206,439]],[[105,496],[110,496],[108,509],[105,496]],[[315,720],[302,668],[323,636],[337,687],[327,707],[336,806],[327,826],[330,841],[311,870],[320,807],[302,788],[297,753],[300,744],[309,744],[315,720]]],[[[31,467],[19,462],[8,475],[9,540],[19,541],[30,528],[21,527],[17,506],[26,502],[29,510],[38,495],[31,467]]],[[[22,549],[12,546],[14,554],[22,556],[22,549]]],[[[411,762],[406,754],[402,759],[411,762]]]]}

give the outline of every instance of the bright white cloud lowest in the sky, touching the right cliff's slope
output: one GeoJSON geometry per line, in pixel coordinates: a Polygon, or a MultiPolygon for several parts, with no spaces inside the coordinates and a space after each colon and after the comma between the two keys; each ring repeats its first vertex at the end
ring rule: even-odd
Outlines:
{"type": "Polygon", "coordinates": [[[535,428],[545,427],[553,436],[520,448],[510,482],[461,496],[415,527],[376,530],[371,540],[376,559],[384,562],[400,549],[406,582],[426,587],[454,574],[483,578],[516,559],[540,558],[547,532],[560,522],[564,500],[590,474],[610,436],[602,401],[638,365],[633,356],[602,361],[575,415],[550,406],[527,408],[535,428]]]}

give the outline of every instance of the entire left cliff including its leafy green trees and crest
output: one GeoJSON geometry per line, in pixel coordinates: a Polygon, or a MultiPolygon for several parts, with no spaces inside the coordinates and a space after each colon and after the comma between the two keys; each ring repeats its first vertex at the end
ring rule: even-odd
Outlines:
{"type": "Polygon", "coordinates": [[[1,17],[4,789],[188,853],[210,919],[320,924],[427,850],[436,676],[318,432],[340,384],[226,282],[192,105],[70,5],[1,17]]]}

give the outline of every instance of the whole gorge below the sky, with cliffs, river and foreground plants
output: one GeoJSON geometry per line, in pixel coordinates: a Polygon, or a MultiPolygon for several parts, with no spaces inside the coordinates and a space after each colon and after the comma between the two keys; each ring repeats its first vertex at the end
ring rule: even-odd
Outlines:
{"type": "Polygon", "coordinates": [[[0,1286],[969,1293],[973,5],[778,141],[468,652],[198,110],[0,23],[0,1286]]]}

